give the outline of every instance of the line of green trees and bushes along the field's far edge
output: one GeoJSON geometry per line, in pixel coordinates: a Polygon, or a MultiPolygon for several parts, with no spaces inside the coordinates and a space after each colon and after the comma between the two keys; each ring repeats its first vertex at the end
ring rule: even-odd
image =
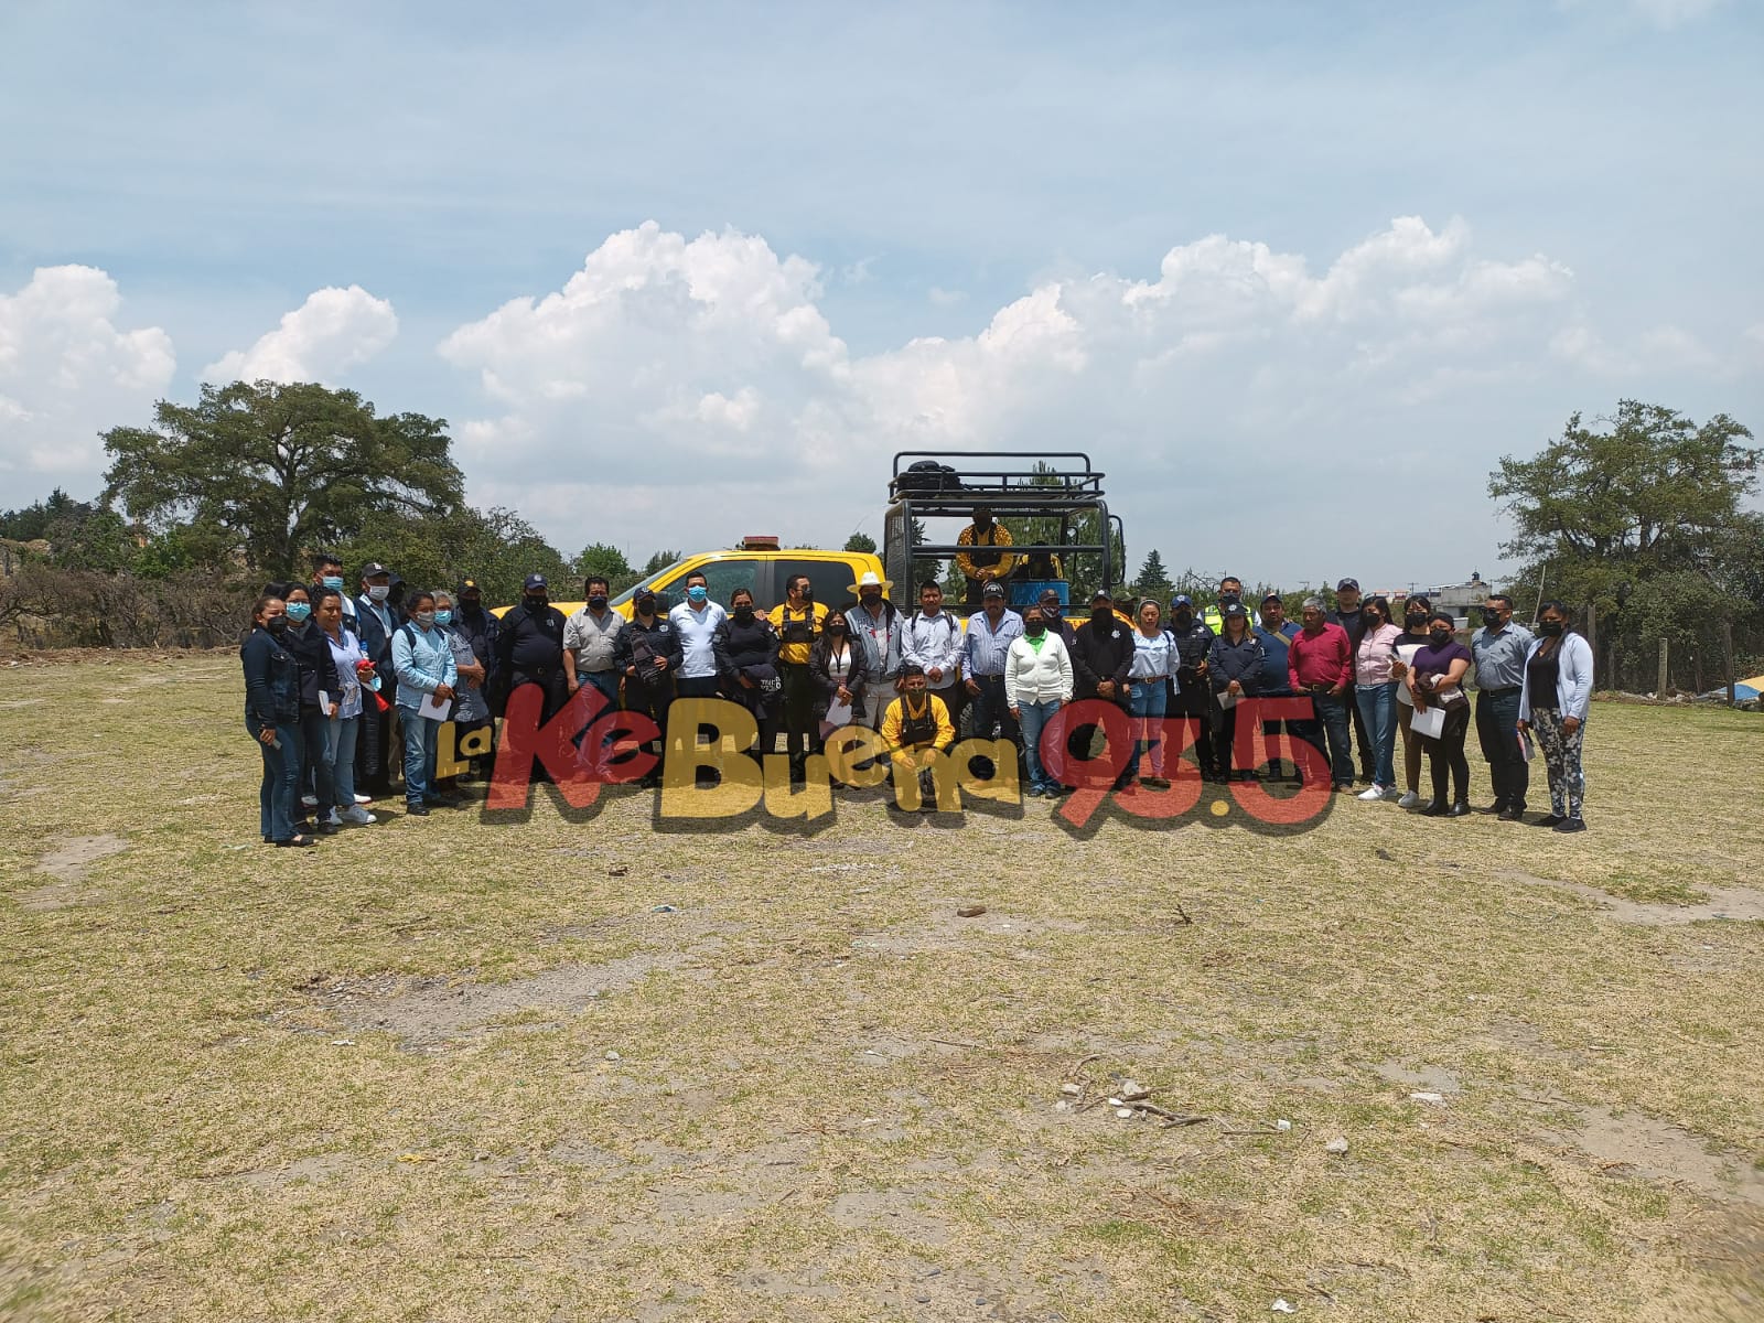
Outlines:
{"type": "MultiPolygon", "coordinates": [[[[445,418],[379,415],[351,390],[205,385],[196,404],[161,400],[150,425],[102,439],[109,467],[95,501],[56,490],[0,512],[0,630],[18,642],[224,642],[243,623],[242,593],[303,579],[316,550],[392,564],[425,587],[471,575],[490,602],[513,602],[534,570],[559,582],[602,573],[619,593],[679,557],[656,550],[635,566],[603,542],[566,557],[519,512],[466,503],[445,418]]],[[[1529,459],[1503,457],[1489,496],[1514,529],[1501,552],[1521,568],[1501,587],[1519,617],[1542,598],[1581,612],[1602,688],[1651,690],[1662,639],[1678,686],[1718,684],[1729,640],[1741,676],[1764,670],[1760,450],[1750,441],[1727,415],[1697,423],[1621,400],[1603,418],[1575,413],[1529,459]]],[[[1057,527],[1014,533],[1058,538],[1057,527]]],[[[1125,573],[1120,538],[1106,536],[1125,573]]],[[[857,533],[847,549],[875,542],[857,533]]],[[[1065,566],[1074,594],[1097,586],[1099,568],[1065,566]]],[[[1124,591],[1210,602],[1217,577],[1173,577],[1154,549],[1124,591]]],[[[1327,586],[1295,589],[1289,605],[1311,591],[1328,596],[1327,586]]]]}

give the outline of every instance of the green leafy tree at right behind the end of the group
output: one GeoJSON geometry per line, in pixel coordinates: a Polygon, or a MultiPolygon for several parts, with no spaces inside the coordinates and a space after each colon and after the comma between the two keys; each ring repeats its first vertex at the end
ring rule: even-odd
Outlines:
{"type": "Polygon", "coordinates": [[[1542,596],[1596,610],[1598,683],[1653,688],[1667,640],[1679,683],[1713,683],[1722,626],[1755,646],[1759,598],[1750,549],[1760,520],[1741,510],[1757,492],[1752,432],[1716,415],[1695,423],[1676,409],[1621,400],[1591,425],[1579,413],[1531,459],[1503,457],[1489,494],[1522,561],[1514,594],[1529,616],[1542,596]],[[1526,594],[1531,600],[1526,600],[1526,594]]]}

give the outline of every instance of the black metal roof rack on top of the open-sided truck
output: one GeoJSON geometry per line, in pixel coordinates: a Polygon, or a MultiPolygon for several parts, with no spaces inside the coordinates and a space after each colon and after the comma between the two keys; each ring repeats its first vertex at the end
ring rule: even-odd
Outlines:
{"type": "Polygon", "coordinates": [[[1034,519],[1094,510],[1102,473],[1081,450],[901,450],[887,492],[914,515],[965,517],[984,505],[1000,519],[1034,519]]]}

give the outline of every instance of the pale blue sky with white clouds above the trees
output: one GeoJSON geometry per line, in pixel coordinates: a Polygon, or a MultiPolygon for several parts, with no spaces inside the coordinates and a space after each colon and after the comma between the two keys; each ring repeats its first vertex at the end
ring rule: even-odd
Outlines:
{"type": "Polygon", "coordinates": [[[1083,445],[1134,563],[1487,572],[1487,471],[1568,413],[1764,422],[1760,37],[1755,0],[14,0],[0,503],[95,490],[99,429],[229,365],[446,416],[566,554],[840,542],[894,448],[1083,445]]]}

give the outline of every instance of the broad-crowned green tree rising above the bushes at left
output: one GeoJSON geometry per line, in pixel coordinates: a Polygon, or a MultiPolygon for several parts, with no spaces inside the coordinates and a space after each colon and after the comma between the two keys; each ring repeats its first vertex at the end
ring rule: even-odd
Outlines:
{"type": "Polygon", "coordinates": [[[152,427],[104,434],[104,501],[150,529],[196,524],[245,566],[305,572],[305,552],[388,517],[450,515],[462,499],[446,422],[376,416],[353,390],[235,381],[196,406],[161,400],[152,427]]]}

